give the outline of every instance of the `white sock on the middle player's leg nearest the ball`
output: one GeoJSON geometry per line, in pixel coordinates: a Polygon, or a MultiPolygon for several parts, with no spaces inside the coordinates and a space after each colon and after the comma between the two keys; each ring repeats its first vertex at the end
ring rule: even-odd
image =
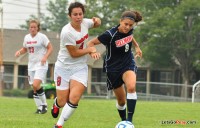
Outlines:
{"type": "Polygon", "coordinates": [[[64,122],[70,118],[70,116],[74,113],[77,106],[73,106],[70,103],[66,103],[65,106],[62,109],[62,113],[60,115],[60,118],[57,122],[57,125],[63,126],[64,122]]]}

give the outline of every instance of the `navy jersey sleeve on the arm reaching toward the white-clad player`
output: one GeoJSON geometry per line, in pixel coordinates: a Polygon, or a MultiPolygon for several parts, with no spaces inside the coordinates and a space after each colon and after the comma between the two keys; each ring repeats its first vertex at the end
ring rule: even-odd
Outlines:
{"type": "Polygon", "coordinates": [[[111,41],[111,35],[108,31],[104,32],[103,34],[99,35],[98,40],[103,44],[103,45],[108,45],[111,41]]]}

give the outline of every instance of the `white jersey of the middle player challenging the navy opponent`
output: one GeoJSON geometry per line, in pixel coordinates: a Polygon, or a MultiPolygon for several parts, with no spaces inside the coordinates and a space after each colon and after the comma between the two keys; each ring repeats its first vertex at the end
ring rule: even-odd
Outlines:
{"type": "Polygon", "coordinates": [[[67,67],[69,65],[85,65],[87,56],[72,58],[66,45],[73,45],[79,49],[86,48],[86,41],[88,39],[88,29],[94,26],[91,19],[83,19],[81,23],[81,32],[76,31],[71,23],[68,23],[62,28],[60,35],[60,51],[58,53],[56,65],[60,67],[67,67]]]}

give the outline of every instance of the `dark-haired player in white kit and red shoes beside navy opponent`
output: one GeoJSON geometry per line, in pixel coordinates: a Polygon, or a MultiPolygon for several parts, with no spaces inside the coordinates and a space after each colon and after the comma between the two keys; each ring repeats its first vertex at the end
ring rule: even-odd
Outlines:
{"type": "Polygon", "coordinates": [[[79,100],[87,87],[87,54],[96,52],[95,47],[86,48],[88,29],[101,24],[99,18],[83,18],[85,9],[79,2],[71,3],[68,15],[71,20],[60,34],[60,51],[55,63],[54,81],[57,98],[52,107],[52,116],[58,117],[59,108],[63,107],[60,118],[54,128],[62,128],[78,107],[79,100]]]}

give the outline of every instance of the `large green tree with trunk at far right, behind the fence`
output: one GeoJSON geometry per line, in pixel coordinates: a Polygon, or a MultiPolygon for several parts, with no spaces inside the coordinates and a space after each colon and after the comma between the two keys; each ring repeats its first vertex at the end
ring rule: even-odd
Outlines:
{"type": "MultiPolygon", "coordinates": [[[[175,6],[157,7],[150,8],[151,16],[141,27],[144,58],[156,67],[179,67],[183,83],[191,84],[191,76],[199,68],[200,3],[182,0],[175,6]]],[[[182,95],[187,96],[186,87],[182,95]]]]}

